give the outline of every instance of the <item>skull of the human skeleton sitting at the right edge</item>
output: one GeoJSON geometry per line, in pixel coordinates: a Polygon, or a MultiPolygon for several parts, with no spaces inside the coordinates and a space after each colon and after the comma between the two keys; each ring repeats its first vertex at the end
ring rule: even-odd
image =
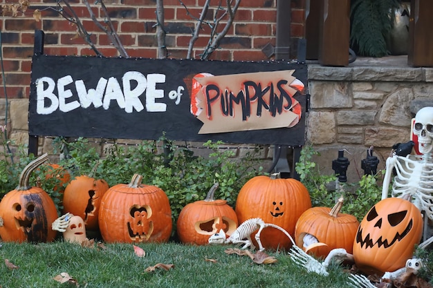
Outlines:
{"type": "Polygon", "coordinates": [[[431,153],[433,149],[433,107],[421,108],[415,115],[414,134],[418,136],[418,150],[431,153]]]}

